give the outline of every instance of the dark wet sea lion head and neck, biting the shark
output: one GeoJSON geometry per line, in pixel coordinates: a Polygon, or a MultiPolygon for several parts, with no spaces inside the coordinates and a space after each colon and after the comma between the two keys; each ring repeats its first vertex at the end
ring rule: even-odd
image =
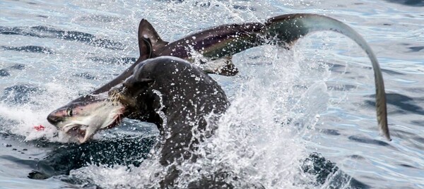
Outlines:
{"type": "MultiPolygon", "coordinates": [[[[114,87],[126,113],[150,121],[160,130],[159,161],[163,166],[196,161],[196,144],[213,134],[228,108],[222,88],[199,67],[172,56],[149,59],[134,69],[123,85],[114,87]]],[[[162,187],[173,185],[177,168],[168,167],[162,187]]]]}

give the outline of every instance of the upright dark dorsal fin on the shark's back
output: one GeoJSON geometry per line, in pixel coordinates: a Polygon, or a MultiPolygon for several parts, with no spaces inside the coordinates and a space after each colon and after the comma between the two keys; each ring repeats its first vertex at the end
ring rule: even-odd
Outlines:
{"type": "Polygon", "coordinates": [[[155,28],[147,20],[143,19],[139,25],[139,40],[143,38],[151,39],[151,46],[153,51],[162,49],[168,42],[163,41],[155,28]]]}

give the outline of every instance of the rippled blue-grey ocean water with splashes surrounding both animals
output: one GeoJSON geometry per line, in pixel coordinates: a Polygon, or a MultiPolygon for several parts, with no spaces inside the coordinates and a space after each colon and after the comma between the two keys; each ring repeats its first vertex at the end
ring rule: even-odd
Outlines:
{"type": "Polygon", "coordinates": [[[366,39],[383,71],[393,140],[377,130],[365,52],[343,35],[317,32],[290,50],[236,54],[235,77],[212,75],[231,106],[202,143],[213,157],[182,167],[187,181],[199,169],[224,169],[264,188],[424,188],[420,0],[0,1],[0,188],[155,187],[155,126],[126,120],[76,145],[47,114],[138,58],[142,18],[172,42],[285,13],[330,16],[366,39]]]}

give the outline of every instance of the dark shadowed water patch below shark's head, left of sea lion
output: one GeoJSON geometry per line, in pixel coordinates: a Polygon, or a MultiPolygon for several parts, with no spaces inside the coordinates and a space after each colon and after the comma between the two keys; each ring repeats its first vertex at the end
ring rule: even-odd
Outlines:
{"type": "Polygon", "coordinates": [[[69,171],[88,164],[139,166],[153,147],[155,137],[127,136],[112,140],[96,140],[82,145],[67,144],[49,152],[37,162],[36,170],[29,178],[45,179],[68,175],[69,171]]]}

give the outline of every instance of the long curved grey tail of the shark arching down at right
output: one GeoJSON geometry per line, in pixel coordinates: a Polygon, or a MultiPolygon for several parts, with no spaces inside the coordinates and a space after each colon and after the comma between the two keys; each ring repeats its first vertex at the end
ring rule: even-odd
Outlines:
{"type": "Polygon", "coordinates": [[[375,102],[379,130],[387,138],[387,140],[391,140],[389,127],[387,126],[387,104],[382,71],[379,68],[379,63],[372,52],[371,47],[367,44],[367,42],[365,42],[365,39],[358,34],[358,32],[355,32],[355,30],[341,21],[327,16],[298,13],[269,18],[269,20],[265,23],[262,35],[265,35],[266,38],[269,39],[277,37],[286,44],[293,44],[302,36],[311,32],[323,30],[331,30],[346,35],[359,44],[359,46],[367,53],[371,60],[375,76],[375,88],[377,93],[375,96],[375,102]]]}

